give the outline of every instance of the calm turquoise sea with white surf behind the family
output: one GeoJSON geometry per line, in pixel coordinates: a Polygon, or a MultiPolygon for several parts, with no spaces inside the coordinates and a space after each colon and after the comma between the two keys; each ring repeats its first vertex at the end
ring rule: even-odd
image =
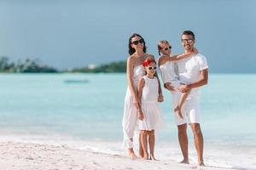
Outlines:
{"type": "MultiPolygon", "coordinates": [[[[201,88],[201,129],[209,166],[256,169],[256,74],[210,74],[201,88]]],[[[125,74],[1,74],[1,139],[70,144],[126,154],[121,148],[125,74]]],[[[171,94],[161,108],[167,129],[156,156],[179,161],[171,94]]],[[[196,162],[189,129],[189,156],[196,162]]]]}

